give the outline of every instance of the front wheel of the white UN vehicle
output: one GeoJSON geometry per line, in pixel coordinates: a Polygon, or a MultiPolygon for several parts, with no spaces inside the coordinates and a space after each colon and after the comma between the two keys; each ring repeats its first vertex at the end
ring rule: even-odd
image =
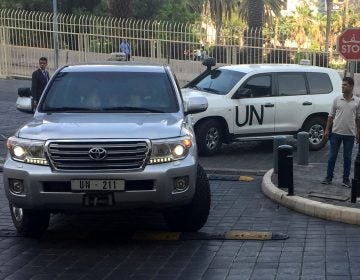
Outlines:
{"type": "Polygon", "coordinates": [[[217,120],[206,120],[196,129],[196,143],[199,155],[212,156],[216,154],[223,142],[223,129],[217,120]]]}

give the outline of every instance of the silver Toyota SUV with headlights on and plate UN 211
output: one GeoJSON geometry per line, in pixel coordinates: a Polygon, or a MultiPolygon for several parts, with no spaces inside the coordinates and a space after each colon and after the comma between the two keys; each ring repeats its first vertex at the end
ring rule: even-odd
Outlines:
{"type": "Polygon", "coordinates": [[[53,212],[145,207],[160,209],[171,230],[200,229],[210,188],[189,114],[206,108],[204,97],[183,101],[167,66],[59,69],[33,119],[7,141],[4,188],[15,227],[36,236],[53,212]]]}

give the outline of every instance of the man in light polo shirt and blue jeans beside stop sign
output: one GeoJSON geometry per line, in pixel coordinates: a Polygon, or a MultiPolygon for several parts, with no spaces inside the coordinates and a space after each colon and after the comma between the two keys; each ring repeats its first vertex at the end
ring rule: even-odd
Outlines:
{"type": "Polygon", "coordinates": [[[354,140],[360,136],[360,99],[353,94],[354,80],[345,77],[342,80],[342,95],[334,99],[324,137],[330,141],[330,150],[326,178],[322,184],[331,184],[334,176],[336,158],[341,142],[343,143],[344,169],[343,186],[350,187],[351,156],[354,140]]]}

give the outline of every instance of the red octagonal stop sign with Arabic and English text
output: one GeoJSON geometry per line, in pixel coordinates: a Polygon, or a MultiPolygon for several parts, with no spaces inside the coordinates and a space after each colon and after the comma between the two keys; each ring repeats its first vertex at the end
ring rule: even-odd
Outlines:
{"type": "Polygon", "coordinates": [[[360,28],[348,28],[337,38],[337,51],[347,60],[360,59],[360,28]]]}

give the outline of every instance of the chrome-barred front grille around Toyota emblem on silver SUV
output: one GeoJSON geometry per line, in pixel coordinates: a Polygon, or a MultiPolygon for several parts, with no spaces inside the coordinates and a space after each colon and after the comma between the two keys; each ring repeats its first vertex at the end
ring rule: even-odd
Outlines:
{"type": "Polygon", "coordinates": [[[131,170],[143,168],[149,154],[150,143],[131,141],[50,141],[47,152],[52,166],[57,170],[131,170]],[[101,159],[90,157],[90,150],[106,151],[101,159]]]}

